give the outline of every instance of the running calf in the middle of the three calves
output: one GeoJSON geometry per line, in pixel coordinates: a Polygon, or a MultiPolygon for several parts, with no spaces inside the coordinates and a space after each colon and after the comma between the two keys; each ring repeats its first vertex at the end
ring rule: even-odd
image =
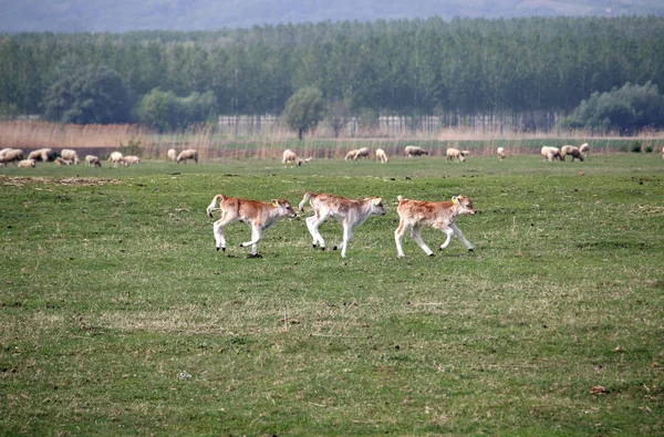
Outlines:
{"type": "MultiPolygon", "coordinates": [[[[353,228],[362,225],[369,216],[384,216],[386,214],[383,207],[383,200],[380,197],[367,197],[362,200],[346,199],[345,197],[305,193],[304,198],[299,205],[301,211],[304,210],[304,204],[309,201],[313,208],[314,215],[307,218],[307,228],[313,237],[312,246],[320,244],[325,250],[325,240],[319,232],[319,226],[328,217],[336,219],[343,227],[343,242],[341,243],[341,257],[345,258],[349,241],[353,238],[353,228]]],[[[336,250],[338,246],[334,246],[336,250]]]]}

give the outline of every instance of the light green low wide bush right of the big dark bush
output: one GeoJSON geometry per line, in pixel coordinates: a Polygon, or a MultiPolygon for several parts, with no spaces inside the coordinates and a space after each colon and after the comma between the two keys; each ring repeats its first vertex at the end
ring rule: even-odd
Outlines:
{"type": "Polygon", "coordinates": [[[154,89],[138,102],[135,113],[145,125],[160,131],[174,129],[206,122],[215,113],[215,97],[212,92],[178,97],[172,92],[154,89]]]}

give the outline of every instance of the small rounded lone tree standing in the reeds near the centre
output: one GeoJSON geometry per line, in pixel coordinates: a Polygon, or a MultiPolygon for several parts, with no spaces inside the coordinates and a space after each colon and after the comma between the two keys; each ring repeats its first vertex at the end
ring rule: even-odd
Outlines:
{"type": "Polygon", "coordinates": [[[314,87],[303,87],[286,102],[283,119],[298,133],[298,138],[302,139],[305,132],[315,129],[323,119],[324,113],[322,93],[314,87]]]}

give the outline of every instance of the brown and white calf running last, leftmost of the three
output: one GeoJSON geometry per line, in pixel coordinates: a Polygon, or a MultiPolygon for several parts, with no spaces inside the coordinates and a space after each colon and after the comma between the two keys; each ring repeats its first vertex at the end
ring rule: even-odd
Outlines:
{"type": "Polygon", "coordinates": [[[242,221],[251,227],[251,241],[240,244],[241,248],[251,246],[251,257],[260,258],[258,254],[258,242],[262,238],[262,232],[274,225],[281,217],[295,217],[295,211],[286,199],[273,199],[270,204],[259,200],[240,199],[237,197],[227,197],[217,195],[207,207],[207,214],[212,217],[212,211],[217,208],[221,210],[221,218],[215,221],[215,243],[217,250],[226,251],[226,237],[224,228],[234,221],[242,221]]]}

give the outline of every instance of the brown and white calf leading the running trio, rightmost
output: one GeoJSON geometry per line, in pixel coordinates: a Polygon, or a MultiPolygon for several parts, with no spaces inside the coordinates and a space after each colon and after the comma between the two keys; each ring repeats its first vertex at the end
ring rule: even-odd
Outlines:
{"type": "Polygon", "coordinates": [[[434,252],[422,239],[422,227],[424,226],[439,229],[447,235],[447,239],[440,244],[440,250],[449,244],[454,235],[466,244],[469,251],[475,250],[470,241],[466,240],[464,232],[455,225],[458,216],[475,214],[473,200],[468,197],[455,196],[452,198],[452,201],[409,200],[401,196],[397,196],[397,199],[398,207],[396,211],[398,212],[400,222],[398,228],[394,231],[394,240],[396,241],[396,253],[400,258],[404,257],[402,239],[408,228],[412,228],[411,237],[413,237],[417,246],[429,257],[434,256],[434,252]]]}

